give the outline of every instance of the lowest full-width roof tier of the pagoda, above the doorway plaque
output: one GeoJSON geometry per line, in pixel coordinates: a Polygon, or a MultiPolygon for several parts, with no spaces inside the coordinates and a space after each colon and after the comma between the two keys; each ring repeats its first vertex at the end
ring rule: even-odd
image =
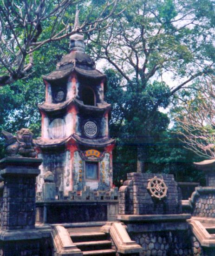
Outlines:
{"type": "Polygon", "coordinates": [[[57,148],[59,146],[65,145],[68,141],[72,139],[78,144],[95,148],[106,147],[115,143],[115,140],[111,139],[110,137],[104,137],[99,139],[85,139],[76,134],[67,136],[63,139],[46,139],[44,137],[40,137],[34,142],[37,146],[39,146],[39,148],[57,148]]]}

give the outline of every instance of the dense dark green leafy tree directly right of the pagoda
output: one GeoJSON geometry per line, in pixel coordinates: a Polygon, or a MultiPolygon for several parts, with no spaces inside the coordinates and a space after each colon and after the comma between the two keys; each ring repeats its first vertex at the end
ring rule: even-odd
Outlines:
{"type": "MultiPolygon", "coordinates": [[[[121,87],[122,76],[111,69],[106,70],[106,74],[106,101],[112,103],[110,130],[111,136],[117,139],[117,162],[125,163],[130,172],[140,168],[147,170],[151,145],[159,140],[169,124],[167,115],[158,109],[168,106],[169,87],[157,81],[148,84],[143,91],[137,90],[139,85],[136,81],[121,87]],[[144,166],[138,167],[140,162],[144,166]]],[[[119,164],[117,169],[120,171],[124,168],[119,164]]]]}

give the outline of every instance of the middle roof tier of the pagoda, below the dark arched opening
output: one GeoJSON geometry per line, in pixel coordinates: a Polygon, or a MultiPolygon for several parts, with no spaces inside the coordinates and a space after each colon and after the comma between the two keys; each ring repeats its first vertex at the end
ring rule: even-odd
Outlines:
{"type": "Polygon", "coordinates": [[[42,104],[38,105],[38,108],[44,112],[51,113],[51,112],[63,110],[72,104],[75,104],[78,108],[82,108],[88,111],[96,111],[96,112],[104,112],[105,110],[111,108],[111,104],[108,104],[105,101],[101,103],[97,103],[97,106],[90,106],[90,105],[85,105],[83,101],[79,101],[77,99],[69,99],[61,103],[43,102],[42,104]]]}

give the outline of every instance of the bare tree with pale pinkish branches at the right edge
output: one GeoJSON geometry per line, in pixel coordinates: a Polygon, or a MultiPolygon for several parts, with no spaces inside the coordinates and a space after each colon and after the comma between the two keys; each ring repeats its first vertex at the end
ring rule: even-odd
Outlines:
{"type": "Polygon", "coordinates": [[[192,92],[177,107],[177,134],[186,148],[197,155],[215,158],[215,77],[201,79],[198,90],[192,92]]]}

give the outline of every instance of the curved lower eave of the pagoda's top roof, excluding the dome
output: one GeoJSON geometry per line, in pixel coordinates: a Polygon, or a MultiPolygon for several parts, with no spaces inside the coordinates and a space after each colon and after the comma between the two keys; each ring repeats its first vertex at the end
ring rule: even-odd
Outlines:
{"type": "Polygon", "coordinates": [[[77,72],[77,74],[91,78],[91,79],[103,79],[106,77],[105,74],[102,74],[97,69],[83,69],[80,67],[69,67],[64,69],[57,69],[53,72],[51,72],[48,75],[43,75],[43,79],[49,82],[55,81],[55,80],[61,80],[72,74],[72,72],[77,72]]]}

